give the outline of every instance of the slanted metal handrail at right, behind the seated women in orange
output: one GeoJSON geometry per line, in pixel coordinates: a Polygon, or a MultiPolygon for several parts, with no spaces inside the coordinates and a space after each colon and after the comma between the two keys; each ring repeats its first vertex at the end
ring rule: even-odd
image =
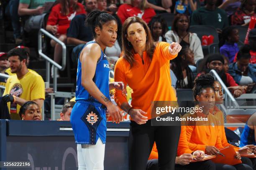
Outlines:
{"type": "Polygon", "coordinates": [[[233,95],[231,94],[231,92],[228,90],[228,87],[224,84],[224,82],[221,80],[220,76],[218,75],[218,73],[215,70],[210,70],[210,74],[215,77],[215,79],[218,80],[218,82],[220,82],[220,85],[223,88],[224,91],[224,104],[228,109],[231,108],[239,108],[238,103],[236,102],[236,99],[233,97],[233,95]]]}

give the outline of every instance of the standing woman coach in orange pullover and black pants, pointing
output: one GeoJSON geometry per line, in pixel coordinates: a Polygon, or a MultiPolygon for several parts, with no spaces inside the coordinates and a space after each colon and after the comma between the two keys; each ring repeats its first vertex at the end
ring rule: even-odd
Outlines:
{"type": "Polygon", "coordinates": [[[151,126],[151,102],[176,101],[171,88],[169,60],[181,46],[154,43],[146,23],[138,17],[125,20],[122,30],[123,57],[115,65],[115,81],[133,89],[131,105],[120,90],[115,102],[131,116],[129,134],[130,170],[146,169],[154,142],[159,153],[159,169],[174,169],[180,126],[151,126]]]}

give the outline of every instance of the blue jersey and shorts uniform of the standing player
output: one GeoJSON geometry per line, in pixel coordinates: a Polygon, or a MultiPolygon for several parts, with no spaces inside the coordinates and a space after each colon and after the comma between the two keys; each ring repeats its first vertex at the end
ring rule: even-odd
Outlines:
{"type": "MultiPolygon", "coordinates": [[[[96,42],[90,41],[86,45],[90,43],[96,42]]],[[[84,47],[86,47],[86,45],[84,45],[84,47]]],[[[74,105],[70,116],[74,138],[77,144],[95,145],[98,138],[102,140],[102,143],[106,143],[106,108],[92,97],[82,86],[81,64],[80,60],[78,60],[76,104],[74,105]]],[[[110,99],[109,70],[108,60],[105,54],[101,51],[100,59],[97,61],[93,81],[103,95],[110,99]]]]}

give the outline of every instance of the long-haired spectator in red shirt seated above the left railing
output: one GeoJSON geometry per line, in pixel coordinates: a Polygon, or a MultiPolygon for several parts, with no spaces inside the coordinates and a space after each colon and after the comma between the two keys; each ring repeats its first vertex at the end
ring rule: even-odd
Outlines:
{"type": "MultiPolygon", "coordinates": [[[[70,22],[75,15],[79,14],[85,14],[84,6],[81,3],[76,0],[61,0],[51,9],[46,30],[66,44],[66,34],[70,22]]],[[[54,47],[54,61],[59,64],[62,59],[62,46],[54,40],[51,40],[51,46],[54,47]]],[[[53,77],[53,66],[51,67],[51,75],[53,77]]],[[[58,72],[57,77],[59,77],[58,72]]]]}

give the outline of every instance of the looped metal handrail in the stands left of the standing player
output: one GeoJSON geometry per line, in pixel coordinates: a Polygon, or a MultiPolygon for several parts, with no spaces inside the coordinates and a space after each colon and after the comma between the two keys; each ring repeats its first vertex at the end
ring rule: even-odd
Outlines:
{"type": "Polygon", "coordinates": [[[59,70],[64,70],[66,67],[66,45],[64,44],[64,42],[62,42],[61,40],[56,38],[54,35],[51,35],[50,32],[41,28],[38,31],[38,54],[46,60],[46,82],[50,82],[50,63],[54,67],[54,78],[53,78],[54,86],[53,86],[53,88],[54,88],[54,92],[56,92],[57,91],[57,77],[56,77],[57,70],[56,69],[58,68],[59,70]],[[42,34],[51,38],[52,40],[56,41],[58,44],[61,45],[61,47],[62,47],[62,65],[59,65],[54,60],[51,60],[51,58],[49,58],[47,55],[45,55],[42,52],[42,48],[43,48],[42,47],[42,34]]]}

